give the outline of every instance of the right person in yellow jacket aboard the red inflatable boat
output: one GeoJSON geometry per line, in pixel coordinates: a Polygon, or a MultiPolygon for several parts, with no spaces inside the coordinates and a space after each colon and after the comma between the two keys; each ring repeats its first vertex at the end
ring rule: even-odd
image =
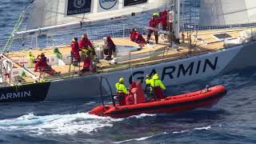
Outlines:
{"type": "Polygon", "coordinates": [[[159,99],[165,98],[162,90],[166,90],[166,86],[162,84],[162,81],[159,79],[158,74],[154,74],[153,78],[146,78],[146,84],[150,85],[150,90],[154,95],[159,99]]]}

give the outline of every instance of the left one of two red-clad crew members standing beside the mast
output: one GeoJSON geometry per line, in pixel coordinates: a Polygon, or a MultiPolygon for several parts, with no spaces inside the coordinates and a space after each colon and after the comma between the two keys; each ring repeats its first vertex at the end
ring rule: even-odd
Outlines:
{"type": "MultiPolygon", "coordinates": [[[[159,24],[159,14],[154,13],[153,17],[150,18],[150,27],[158,28],[158,24],[159,24]]],[[[149,30],[149,33],[147,34],[147,43],[149,43],[151,34],[153,32],[154,32],[155,43],[158,44],[158,31],[154,31],[154,30],[149,30]]]]}

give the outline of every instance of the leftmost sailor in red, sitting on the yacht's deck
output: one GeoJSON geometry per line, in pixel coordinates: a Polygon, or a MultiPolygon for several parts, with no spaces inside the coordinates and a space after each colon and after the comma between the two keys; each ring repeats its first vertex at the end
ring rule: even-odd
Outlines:
{"type": "Polygon", "coordinates": [[[50,75],[58,74],[47,64],[47,58],[43,53],[38,55],[38,58],[35,59],[34,72],[37,72],[38,70],[50,75]]]}

